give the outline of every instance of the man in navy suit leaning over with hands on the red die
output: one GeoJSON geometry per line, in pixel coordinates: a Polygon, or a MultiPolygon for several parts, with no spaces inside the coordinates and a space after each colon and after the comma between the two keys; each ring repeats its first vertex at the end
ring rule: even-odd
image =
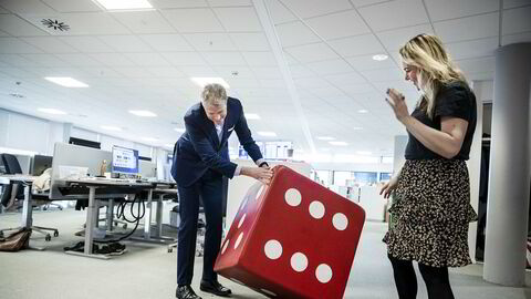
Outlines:
{"type": "Polygon", "coordinates": [[[214,264],[221,246],[223,176],[253,177],[269,184],[272,172],[254,143],[239,100],[228,97],[223,86],[208,84],[202,101],[185,115],[186,132],[174,147],[171,176],[179,189],[179,236],[177,247],[177,291],[179,299],[200,299],[190,287],[196,254],[199,197],[202,199],[207,229],[200,289],[230,297],[230,289],[218,282],[214,264]],[[242,167],[230,162],[228,140],[238,140],[259,167],[242,167]]]}

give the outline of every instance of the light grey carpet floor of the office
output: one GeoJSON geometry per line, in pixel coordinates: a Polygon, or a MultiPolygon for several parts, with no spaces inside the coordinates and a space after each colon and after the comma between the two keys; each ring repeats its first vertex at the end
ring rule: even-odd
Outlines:
{"type": "MultiPolygon", "coordinates": [[[[171,205],[165,205],[166,212],[171,205]]],[[[165,223],[169,213],[164,213],[165,223]]],[[[0,228],[19,225],[20,214],[1,214],[0,228]]],[[[85,213],[73,209],[34,212],[33,223],[59,228],[60,236],[45,241],[33,234],[31,244],[43,246],[44,251],[22,250],[0,252],[0,298],[2,299],[163,299],[175,298],[176,250],[167,246],[138,241],[124,241],[128,251],[110,260],[71,256],[63,247],[81,237],[85,213]]],[[[386,224],[367,221],[362,234],[354,266],[344,298],[397,298],[392,268],[381,241],[386,224]]],[[[175,234],[175,230],[170,230],[175,234]]],[[[199,291],[202,258],[196,258],[192,287],[204,298],[215,298],[199,291]]],[[[531,288],[509,288],[489,283],[481,278],[482,266],[471,265],[450,270],[456,298],[522,299],[531,298],[531,288]]],[[[417,271],[418,272],[418,271],[417,271]]],[[[528,281],[531,277],[528,274],[528,281]]],[[[232,298],[266,298],[251,289],[220,277],[221,283],[232,289],[232,298]]],[[[417,298],[427,298],[426,288],[418,276],[417,298]]],[[[528,282],[528,286],[531,285],[528,282]]]]}

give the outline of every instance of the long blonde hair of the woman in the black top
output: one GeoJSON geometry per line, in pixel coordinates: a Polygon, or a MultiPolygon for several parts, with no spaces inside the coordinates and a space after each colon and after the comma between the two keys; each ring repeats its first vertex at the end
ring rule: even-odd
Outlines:
{"type": "Polygon", "coordinates": [[[417,69],[418,84],[424,92],[418,106],[429,118],[434,117],[435,99],[441,84],[461,81],[468,86],[462,72],[435,35],[418,34],[400,48],[399,53],[405,64],[417,69]]]}

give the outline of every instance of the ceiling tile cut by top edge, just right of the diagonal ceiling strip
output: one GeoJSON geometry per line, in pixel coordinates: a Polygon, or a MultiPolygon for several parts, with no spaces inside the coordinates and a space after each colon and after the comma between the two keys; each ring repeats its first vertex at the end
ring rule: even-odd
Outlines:
{"type": "Polygon", "coordinates": [[[300,18],[311,18],[352,9],[348,0],[282,0],[282,2],[300,18]]]}

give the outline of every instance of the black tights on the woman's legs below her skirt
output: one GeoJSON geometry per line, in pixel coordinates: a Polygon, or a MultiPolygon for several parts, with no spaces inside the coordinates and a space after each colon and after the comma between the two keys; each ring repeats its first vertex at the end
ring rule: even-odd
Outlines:
{"type": "MultiPolygon", "coordinates": [[[[417,297],[417,276],[410,260],[402,260],[388,255],[393,266],[393,275],[399,299],[415,299],[417,297]]],[[[418,264],[429,299],[454,299],[448,267],[430,267],[418,264]]]]}

